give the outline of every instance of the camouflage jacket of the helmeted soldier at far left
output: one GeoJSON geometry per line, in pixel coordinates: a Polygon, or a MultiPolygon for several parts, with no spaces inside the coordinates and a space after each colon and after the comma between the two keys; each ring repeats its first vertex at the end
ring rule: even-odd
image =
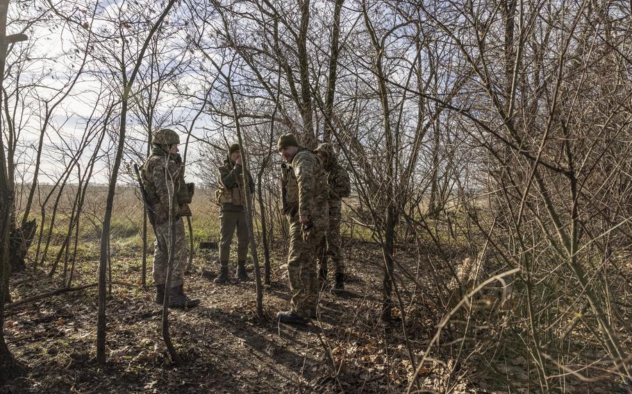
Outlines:
{"type": "Polygon", "coordinates": [[[170,155],[154,147],[143,164],[142,181],[156,224],[169,221],[170,205],[174,207],[174,215],[178,217],[183,213],[181,211],[185,208],[184,205],[191,202],[190,191],[184,182],[184,164],[180,155],[170,155]]]}

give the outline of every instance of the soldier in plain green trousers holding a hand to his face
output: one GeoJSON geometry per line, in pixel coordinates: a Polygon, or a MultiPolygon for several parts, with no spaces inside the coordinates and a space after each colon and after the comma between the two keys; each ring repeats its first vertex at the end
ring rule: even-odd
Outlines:
{"type": "MultiPolygon", "coordinates": [[[[248,243],[250,241],[248,228],[246,226],[246,214],[244,206],[246,205],[246,193],[244,192],[242,178],[242,157],[239,144],[232,144],[228,148],[228,159],[224,161],[224,165],[217,169],[217,184],[219,188],[216,191],[217,204],[220,205],[219,220],[220,232],[222,240],[219,242],[219,275],[213,282],[217,284],[226,284],[228,282],[228,259],[231,255],[231,243],[233,243],[233,234],[237,229],[237,275],[236,280],[247,282],[249,280],[246,273],[246,257],[248,255],[248,243]]],[[[248,187],[250,194],[255,191],[255,182],[249,171],[248,187]]]]}

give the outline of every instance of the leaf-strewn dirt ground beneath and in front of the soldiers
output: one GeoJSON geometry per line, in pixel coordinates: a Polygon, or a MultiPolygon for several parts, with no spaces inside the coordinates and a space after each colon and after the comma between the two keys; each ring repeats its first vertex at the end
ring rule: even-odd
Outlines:
{"type": "MultiPolygon", "coordinates": [[[[117,259],[134,258],[133,252],[127,252],[129,256],[124,250],[115,251],[113,266],[117,259]]],[[[153,286],[113,286],[104,367],[94,361],[96,289],[9,309],[6,339],[29,372],[0,392],[404,391],[412,368],[401,341],[401,322],[395,316],[394,323],[381,323],[382,274],[379,266],[367,264],[379,261],[379,248],[360,244],[349,248],[347,256],[348,291],[343,295],[322,291],[319,319],[299,326],[278,324],[275,319],[277,311],[288,309],[290,298],[283,254],[274,256],[272,284],[264,289],[263,319],[256,316],[255,282],[216,285],[202,273],[216,271],[215,266],[197,257],[196,268],[185,278],[185,289],[201,298],[201,306],[170,313],[172,339],[185,358],[182,365],[174,365],[167,355],[153,286]]],[[[84,265],[85,275],[96,271],[96,262],[84,265]]],[[[138,264],[122,264],[114,271],[115,281],[134,284],[140,277],[138,264]]],[[[12,282],[14,300],[58,288],[45,275],[18,274],[12,282]]],[[[428,322],[428,330],[414,326],[408,335],[415,349],[421,349],[433,332],[432,323],[428,322]]]]}

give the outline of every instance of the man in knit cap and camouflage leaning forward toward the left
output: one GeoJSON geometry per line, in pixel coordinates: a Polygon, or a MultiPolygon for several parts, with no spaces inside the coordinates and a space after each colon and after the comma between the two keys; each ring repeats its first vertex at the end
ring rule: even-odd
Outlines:
{"type": "Polygon", "coordinates": [[[322,160],[299,147],[292,134],[278,139],[283,164],[281,191],[283,213],[290,224],[288,276],[292,300],[290,310],[276,314],[283,323],[308,323],[316,317],[318,280],[315,249],[329,226],[327,175],[322,160]]]}

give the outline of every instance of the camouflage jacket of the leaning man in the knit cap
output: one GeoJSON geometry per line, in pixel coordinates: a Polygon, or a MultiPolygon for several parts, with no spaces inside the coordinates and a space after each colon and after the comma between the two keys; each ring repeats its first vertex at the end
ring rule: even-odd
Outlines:
{"type": "Polygon", "coordinates": [[[329,186],[322,159],[306,148],[299,148],[290,166],[283,169],[281,187],[284,190],[285,214],[311,216],[315,207],[329,199],[329,186]]]}

